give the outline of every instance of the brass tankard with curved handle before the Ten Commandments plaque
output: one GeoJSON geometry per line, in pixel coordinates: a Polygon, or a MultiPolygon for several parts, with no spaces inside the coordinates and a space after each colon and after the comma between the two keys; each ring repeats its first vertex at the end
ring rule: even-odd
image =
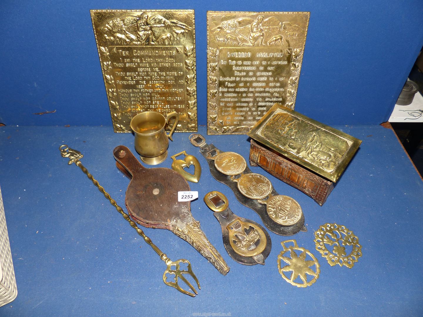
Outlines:
{"type": "Polygon", "coordinates": [[[137,114],[131,120],[131,128],[135,132],[135,150],[140,154],[141,160],[150,165],[162,163],[168,156],[169,140],[172,140],[173,131],[178,125],[179,114],[170,112],[162,115],[155,111],[145,111],[137,114]],[[170,118],[175,118],[169,134],[165,126],[170,118]]]}

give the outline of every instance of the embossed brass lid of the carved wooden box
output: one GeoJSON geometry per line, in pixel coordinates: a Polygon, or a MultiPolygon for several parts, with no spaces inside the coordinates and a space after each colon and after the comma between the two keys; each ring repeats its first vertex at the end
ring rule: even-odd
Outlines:
{"type": "Polygon", "coordinates": [[[342,175],[361,143],[280,104],[275,104],[248,135],[332,182],[342,175]]]}

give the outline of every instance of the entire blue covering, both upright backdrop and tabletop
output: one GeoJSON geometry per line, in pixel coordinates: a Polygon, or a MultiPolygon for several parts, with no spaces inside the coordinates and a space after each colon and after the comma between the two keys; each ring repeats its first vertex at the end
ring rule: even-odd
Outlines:
{"type": "MultiPolygon", "coordinates": [[[[389,117],[423,44],[422,12],[421,0],[3,1],[0,123],[7,126],[0,128],[0,186],[18,297],[0,316],[423,314],[423,183],[393,132],[376,126],[389,117]],[[111,128],[89,13],[104,8],[195,9],[200,124],[206,123],[206,11],[310,11],[296,110],[363,140],[323,207],[252,168],[300,203],[308,232],[286,238],[269,232],[266,265],[245,267],[226,253],[202,197],[222,191],[239,216],[261,223],[259,217],[211,177],[188,134],[175,134],[169,152],[187,150],[203,167],[200,183],[190,184],[200,195],[192,214],[231,271],[223,277],[167,230],[146,233],[171,259],[191,261],[201,283],[196,298],[162,283],[165,264],[157,254],[60,157],[63,143],[84,153],[83,164],[124,206],[129,180],[116,169],[112,150],[133,149],[133,135],[111,128]],[[325,222],[344,224],[360,238],[363,257],[351,270],[330,267],[313,249],[313,232],[325,222]],[[306,289],[277,272],[280,241],[289,238],[319,258],[320,278],[306,289]]],[[[206,133],[204,126],[199,131],[206,133]]],[[[207,141],[248,156],[246,136],[207,141]]]]}

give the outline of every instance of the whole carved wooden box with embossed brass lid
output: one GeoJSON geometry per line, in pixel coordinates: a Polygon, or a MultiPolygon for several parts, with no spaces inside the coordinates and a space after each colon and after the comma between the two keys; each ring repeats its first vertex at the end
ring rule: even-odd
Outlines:
{"type": "Polygon", "coordinates": [[[361,140],[275,104],[252,128],[250,163],[323,205],[361,140]],[[257,142],[255,142],[257,141],[257,142]]]}

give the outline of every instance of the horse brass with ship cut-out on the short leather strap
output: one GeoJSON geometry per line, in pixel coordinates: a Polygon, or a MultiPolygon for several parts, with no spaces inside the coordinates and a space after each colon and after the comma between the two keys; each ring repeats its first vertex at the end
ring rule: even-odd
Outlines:
{"type": "Polygon", "coordinates": [[[250,222],[237,218],[228,224],[226,229],[233,250],[243,257],[253,257],[266,248],[266,235],[263,230],[250,222]]]}

